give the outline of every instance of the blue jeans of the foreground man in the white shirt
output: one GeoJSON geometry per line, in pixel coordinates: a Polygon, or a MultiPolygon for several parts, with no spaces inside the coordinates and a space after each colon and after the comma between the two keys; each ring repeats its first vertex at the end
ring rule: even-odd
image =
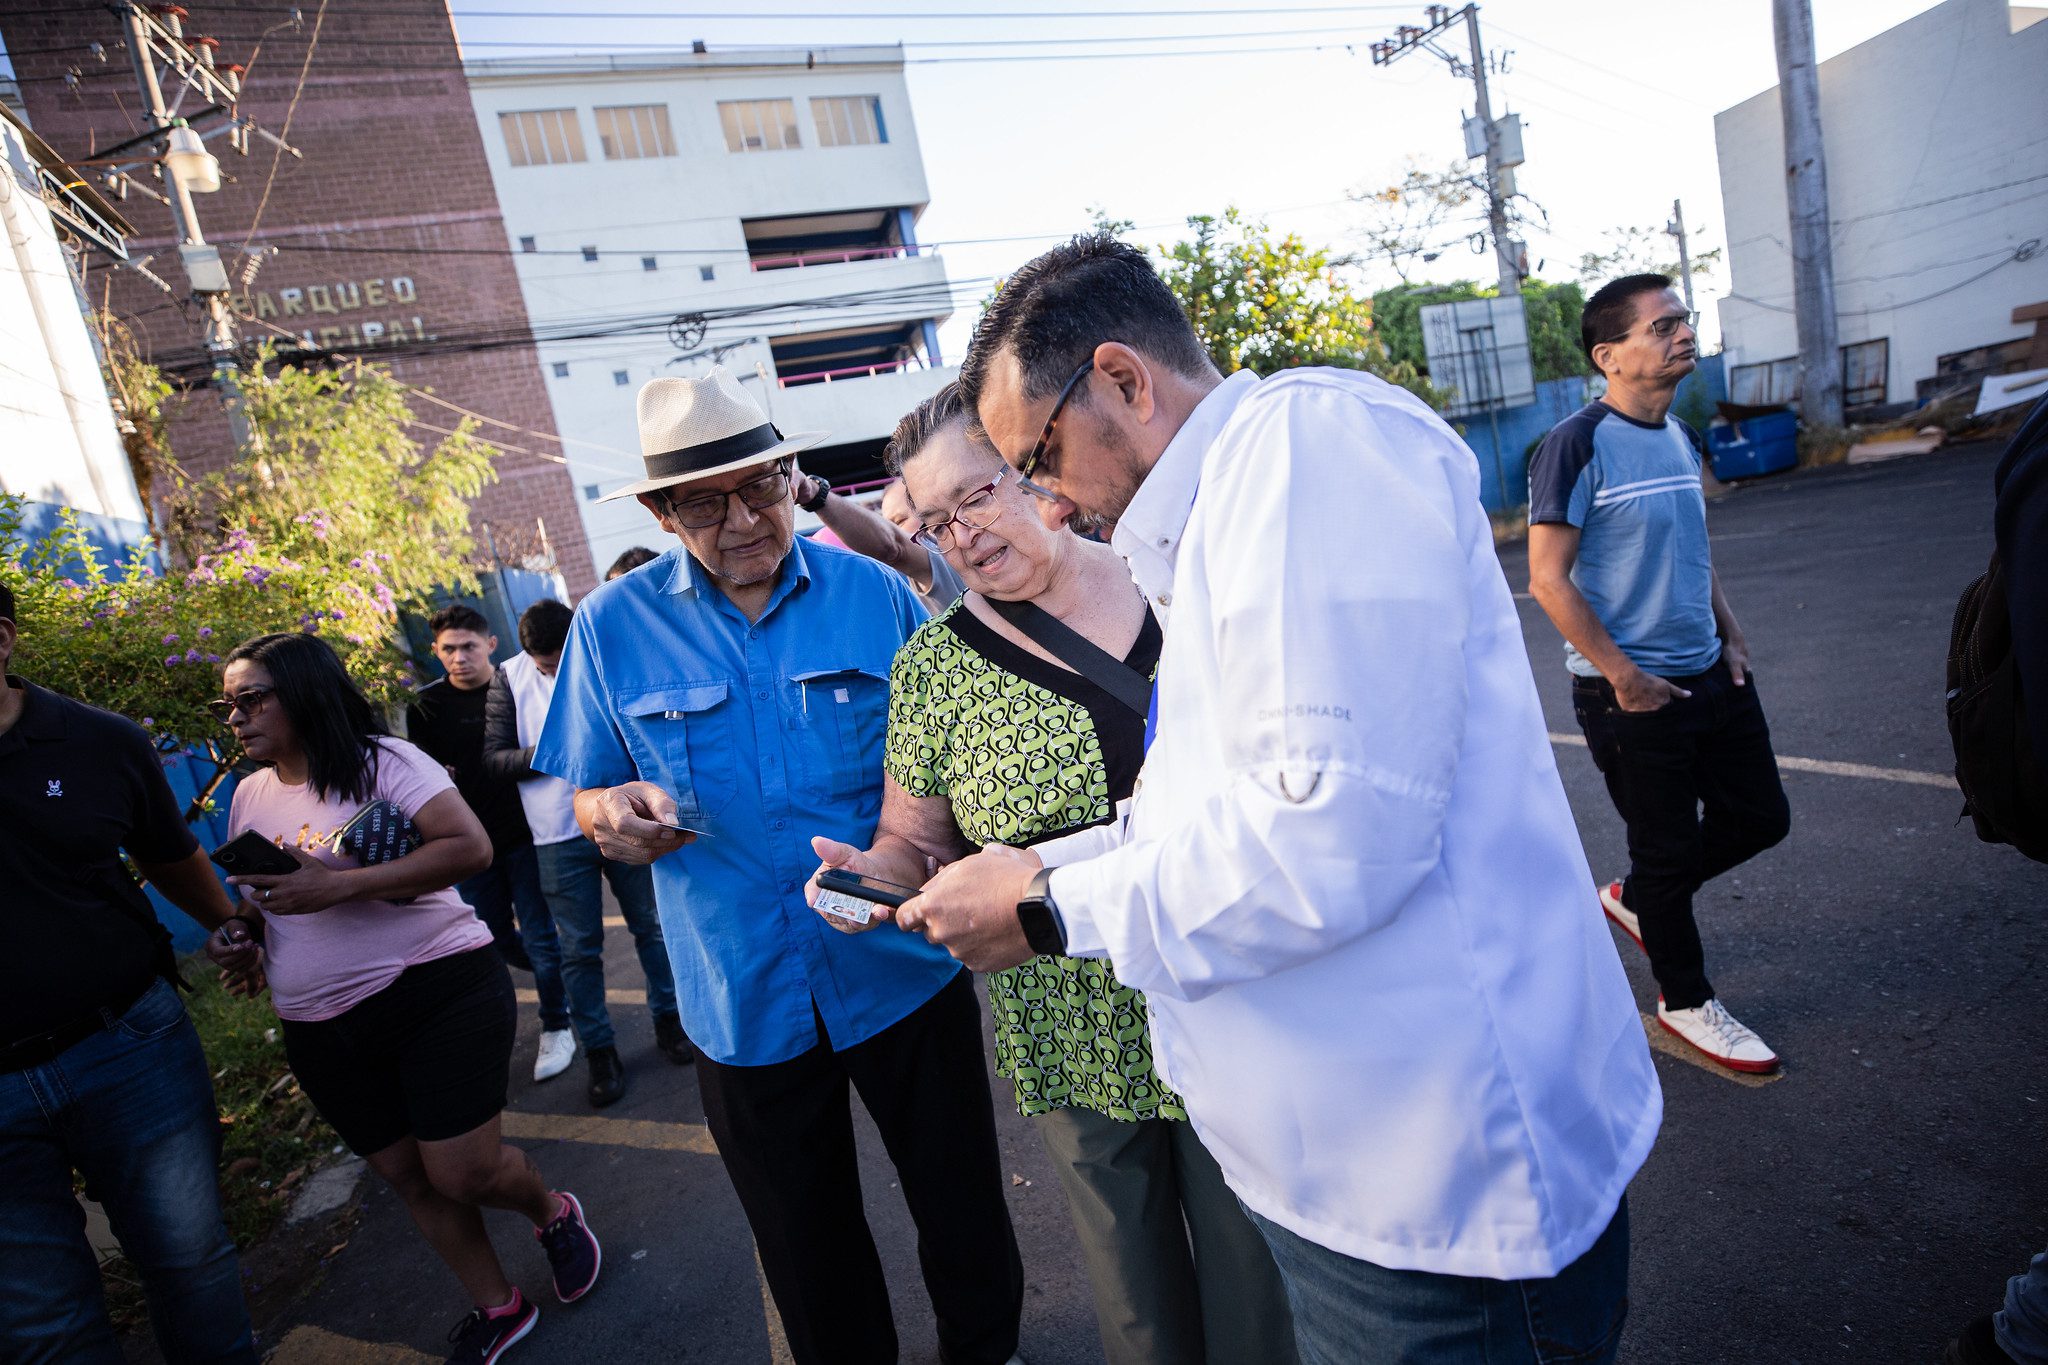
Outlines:
{"type": "Polygon", "coordinates": [[[1626,1197],[1599,1240],[1552,1279],[1389,1271],[1257,1214],[1251,1222],[1280,1265],[1300,1365],[1610,1365],[1622,1338],[1626,1197]]]}

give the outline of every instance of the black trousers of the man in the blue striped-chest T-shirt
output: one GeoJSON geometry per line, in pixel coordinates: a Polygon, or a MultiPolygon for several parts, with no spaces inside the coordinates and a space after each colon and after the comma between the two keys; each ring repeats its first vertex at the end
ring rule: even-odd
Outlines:
{"type": "Polygon", "coordinates": [[[1606,677],[1573,677],[1571,706],[1593,765],[1628,825],[1622,902],[1640,919],[1642,950],[1667,1009],[1714,999],[1692,896],[1792,829],[1757,679],[1737,688],[1726,661],[1671,677],[1690,698],[1630,712],[1606,677]]]}

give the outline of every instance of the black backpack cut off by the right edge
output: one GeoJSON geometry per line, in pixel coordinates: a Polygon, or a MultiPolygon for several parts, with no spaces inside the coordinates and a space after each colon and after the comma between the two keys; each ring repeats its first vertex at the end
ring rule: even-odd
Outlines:
{"type": "Polygon", "coordinates": [[[2028,733],[1997,551],[1985,575],[1956,602],[1948,636],[1948,735],[1956,745],[1962,810],[1976,825],[1976,837],[2011,843],[2048,864],[2048,774],[2028,733]]]}

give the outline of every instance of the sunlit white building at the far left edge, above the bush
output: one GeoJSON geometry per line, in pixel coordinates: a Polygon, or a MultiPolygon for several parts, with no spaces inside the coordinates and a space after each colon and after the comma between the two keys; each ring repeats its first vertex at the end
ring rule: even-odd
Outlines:
{"type": "Polygon", "coordinates": [[[137,528],[145,522],[141,495],[106,399],[59,223],[74,235],[72,225],[104,241],[119,241],[129,229],[111,205],[76,180],[78,174],[0,104],[0,227],[6,229],[6,244],[0,244],[0,491],[76,508],[88,524],[111,518],[137,528]]]}

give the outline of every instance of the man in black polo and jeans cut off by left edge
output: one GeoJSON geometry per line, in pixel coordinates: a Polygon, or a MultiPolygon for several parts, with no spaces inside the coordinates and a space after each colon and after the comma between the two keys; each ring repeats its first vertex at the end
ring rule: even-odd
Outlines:
{"type": "MultiPolygon", "coordinates": [[[[0,673],[14,596],[0,585],[0,673]]],[[[6,673],[0,688],[0,1355],[123,1359],[72,1171],[141,1271],[172,1361],[256,1349],[221,1222],[219,1111],[166,976],[170,937],[121,851],[219,929],[227,892],[129,720],[6,673]]]]}

